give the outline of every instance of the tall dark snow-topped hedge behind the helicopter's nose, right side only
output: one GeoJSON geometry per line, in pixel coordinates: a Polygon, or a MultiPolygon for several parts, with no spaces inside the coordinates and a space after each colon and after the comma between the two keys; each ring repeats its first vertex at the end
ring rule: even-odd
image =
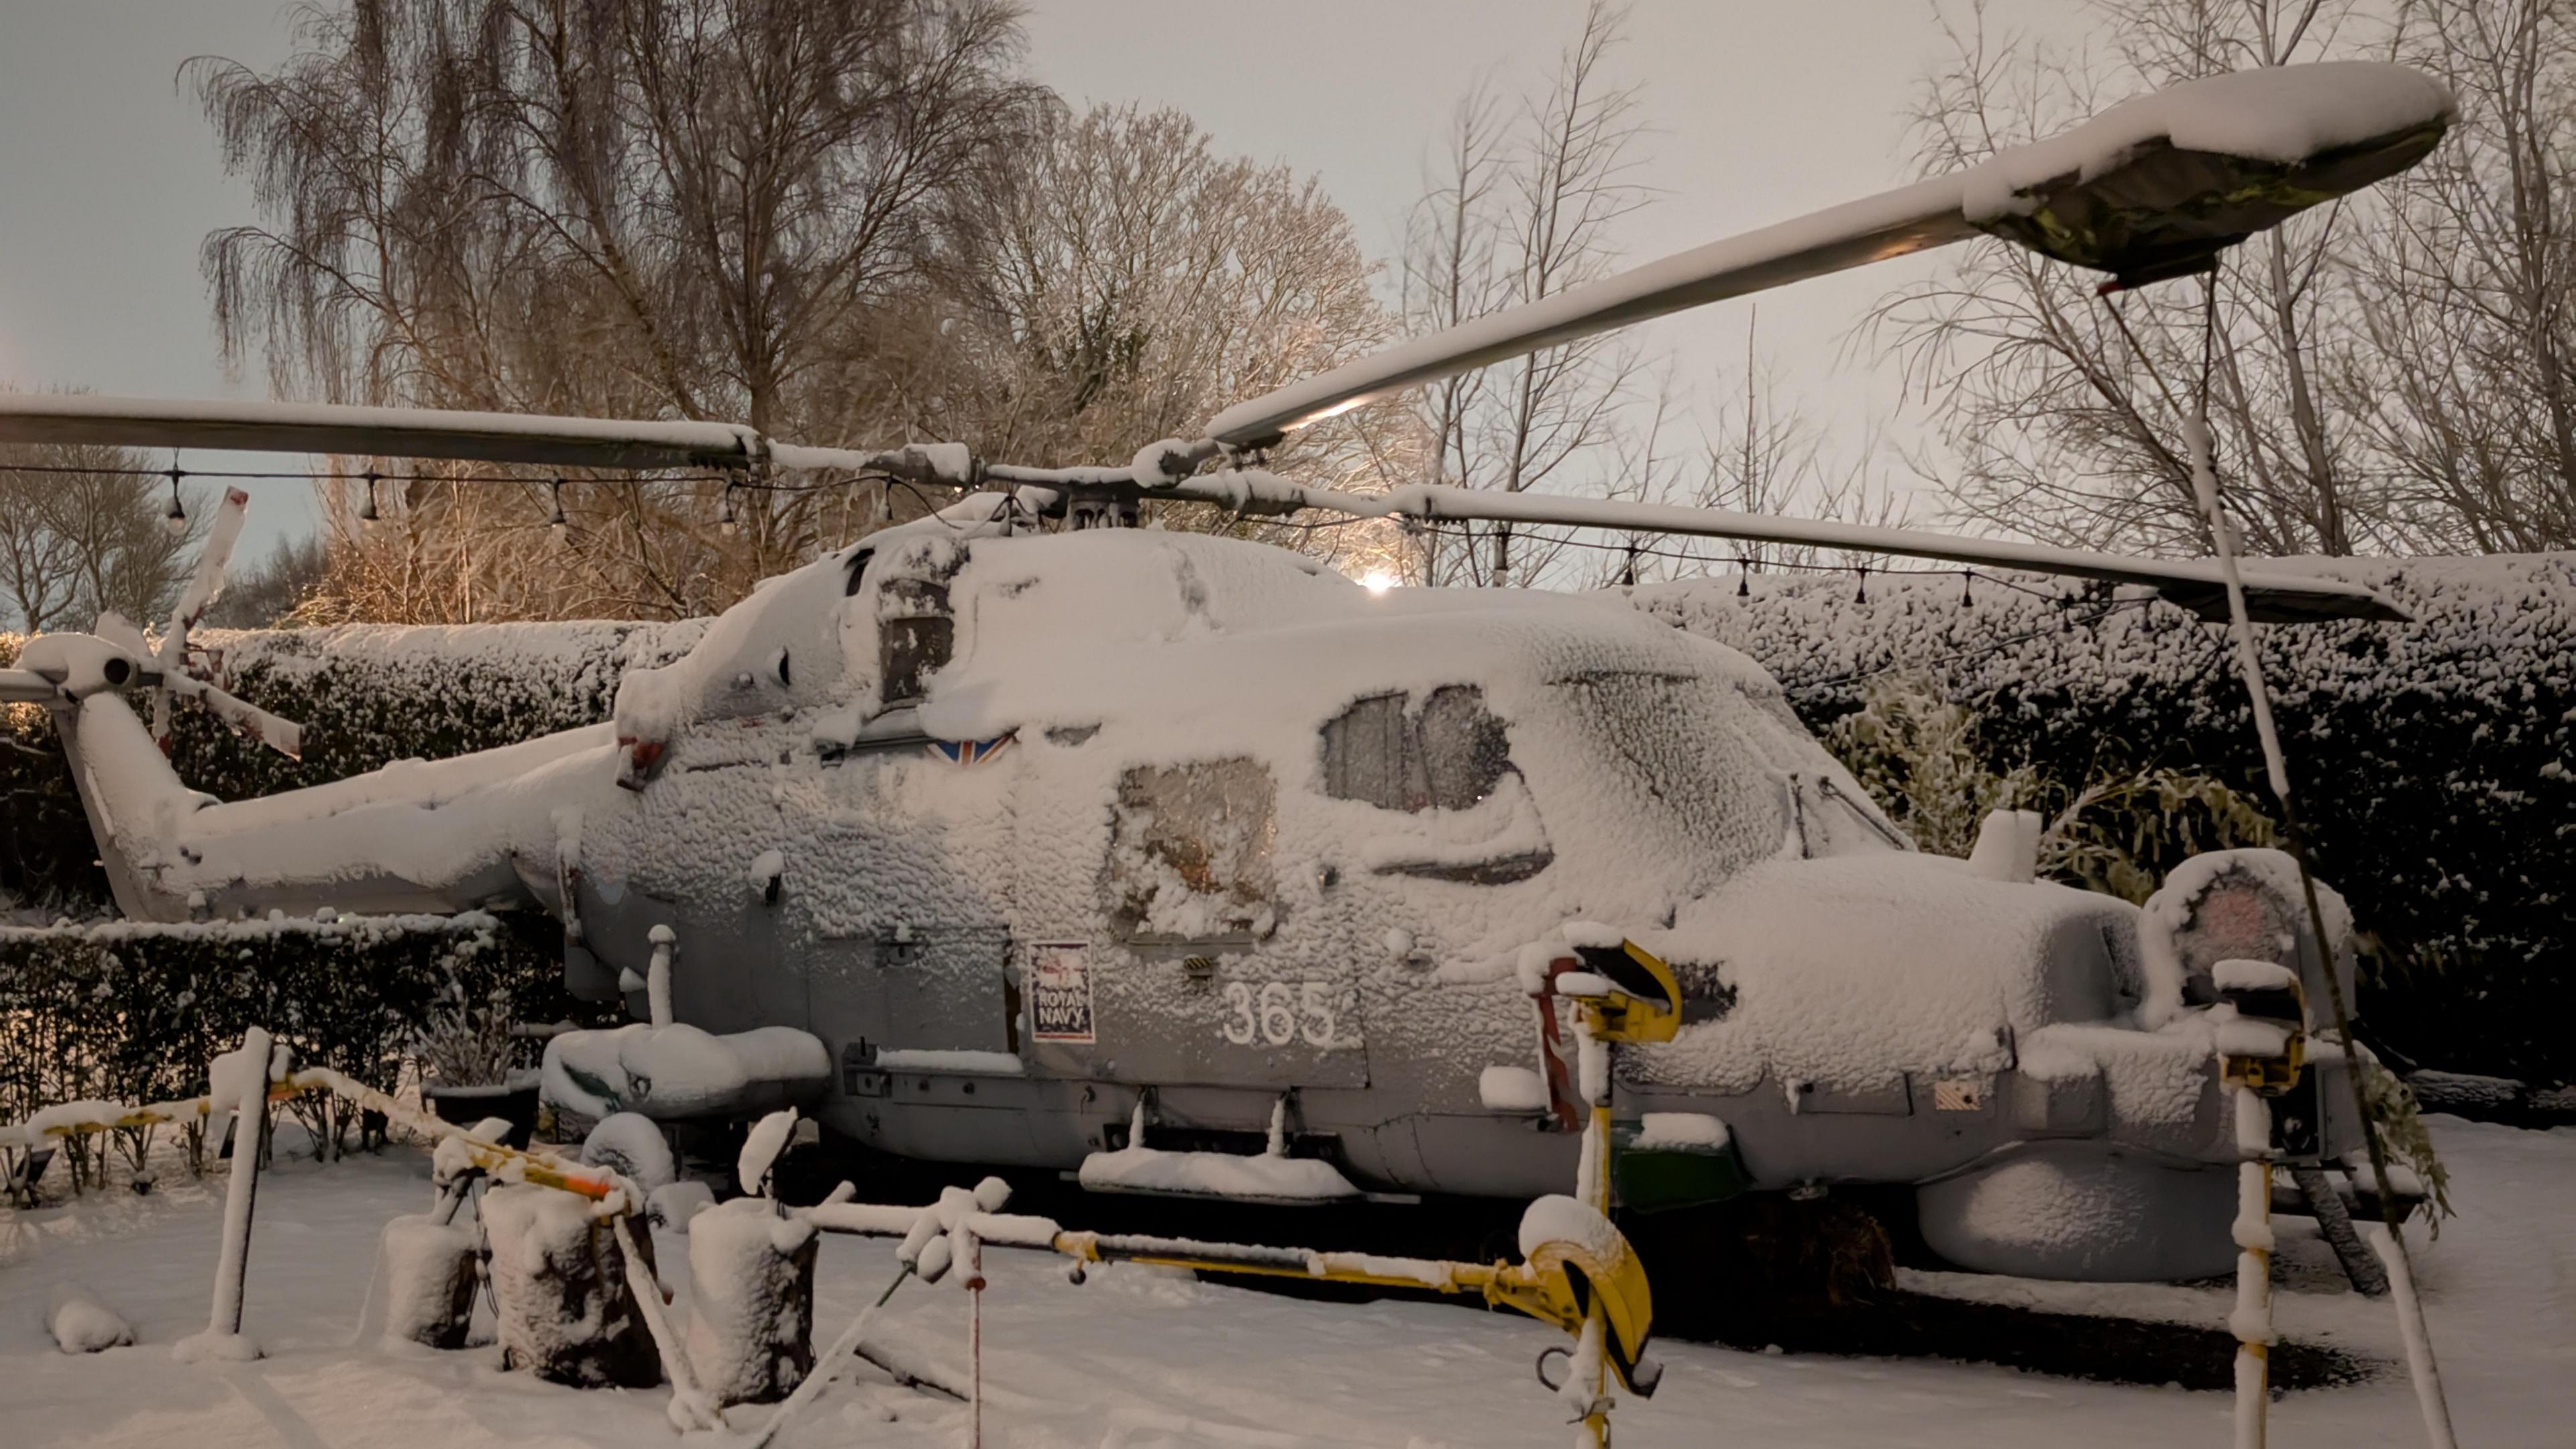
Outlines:
{"type": "MultiPolygon", "coordinates": [[[[2576,554],[2342,559],[2411,624],[2262,627],[2316,866],[2378,944],[2367,1031],[2401,1057],[2576,1080],[2576,554]]],[[[1824,727],[1875,673],[1932,673],[1996,768],[2195,768],[2257,799],[2262,758],[2226,632],[2105,614],[2079,588],[1947,575],[1734,578],[1636,603],[1767,665],[1824,727]]]]}

